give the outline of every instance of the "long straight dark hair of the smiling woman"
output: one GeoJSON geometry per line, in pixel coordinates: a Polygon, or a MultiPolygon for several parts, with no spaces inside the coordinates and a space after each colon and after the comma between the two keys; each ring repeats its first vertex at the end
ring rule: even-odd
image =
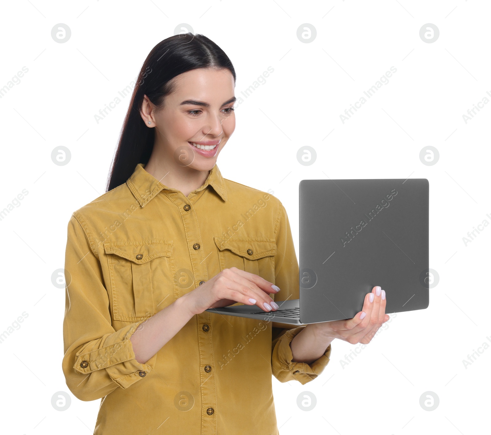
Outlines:
{"type": "Polygon", "coordinates": [[[155,128],[141,119],[143,96],[159,109],[174,89],[174,77],[196,68],[227,68],[236,79],[232,62],[225,52],[204,35],[181,33],[159,42],[148,54],[136,82],[114,154],[106,192],[126,182],[138,163],[148,163],[155,128]]]}

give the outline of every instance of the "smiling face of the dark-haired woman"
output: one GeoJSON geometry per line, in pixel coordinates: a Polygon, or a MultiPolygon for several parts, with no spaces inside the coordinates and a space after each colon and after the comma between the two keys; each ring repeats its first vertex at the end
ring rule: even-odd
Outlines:
{"type": "Polygon", "coordinates": [[[174,81],[164,108],[149,118],[157,144],[167,162],[208,171],[235,129],[234,77],[228,69],[198,68],[174,81]]]}

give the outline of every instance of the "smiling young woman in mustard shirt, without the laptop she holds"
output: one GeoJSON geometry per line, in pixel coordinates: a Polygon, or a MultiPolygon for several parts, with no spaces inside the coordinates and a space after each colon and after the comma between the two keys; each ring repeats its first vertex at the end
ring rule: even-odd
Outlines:
{"type": "Polygon", "coordinates": [[[101,399],[94,434],[278,434],[272,374],[306,384],[334,338],[368,343],[388,320],[380,287],[355,318],[300,327],[205,311],[299,297],[285,208],[216,164],[235,79],[205,36],[155,46],[108,191],[68,223],[63,372],[77,398],[101,399]]]}

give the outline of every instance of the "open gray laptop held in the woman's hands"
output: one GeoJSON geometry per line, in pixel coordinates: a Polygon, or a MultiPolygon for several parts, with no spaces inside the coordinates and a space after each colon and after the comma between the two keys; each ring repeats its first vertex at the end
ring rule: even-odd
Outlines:
{"type": "Polygon", "coordinates": [[[300,196],[300,299],[206,311],[303,325],[351,319],[375,285],[386,313],[429,305],[427,179],[306,179],[300,196]]]}

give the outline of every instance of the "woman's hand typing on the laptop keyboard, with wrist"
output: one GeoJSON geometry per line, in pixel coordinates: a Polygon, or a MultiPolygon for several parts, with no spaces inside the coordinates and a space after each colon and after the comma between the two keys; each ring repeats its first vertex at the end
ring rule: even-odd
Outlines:
{"type": "Polygon", "coordinates": [[[278,306],[269,296],[279,288],[258,275],[231,267],[223,269],[211,280],[204,282],[182,296],[191,313],[200,314],[207,308],[227,307],[236,302],[257,305],[263,311],[275,311],[278,306]]]}

